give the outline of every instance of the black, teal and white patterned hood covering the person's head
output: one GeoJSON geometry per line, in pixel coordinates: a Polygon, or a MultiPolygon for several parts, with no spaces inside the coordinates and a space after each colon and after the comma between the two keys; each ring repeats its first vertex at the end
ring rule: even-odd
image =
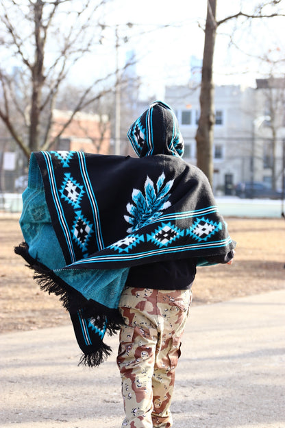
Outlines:
{"type": "Polygon", "coordinates": [[[184,141],[174,111],[156,101],[138,117],[127,133],[136,154],[141,158],[154,154],[183,156],[184,141]]]}

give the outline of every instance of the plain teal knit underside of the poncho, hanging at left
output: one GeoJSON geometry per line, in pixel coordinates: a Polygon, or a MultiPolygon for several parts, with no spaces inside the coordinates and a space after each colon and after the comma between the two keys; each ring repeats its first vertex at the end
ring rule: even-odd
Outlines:
{"type": "Polygon", "coordinates": [[[109,270],[62,270],[66,265],[60,243],[51,225],[45,190],[34,156],[29,167],[29,185],[23,193],[20,219],[29,254],[53,270],[67,284],[72,284],[87,300],[95,300],[108,308],[118,307],[129,268],[109,270]]]}

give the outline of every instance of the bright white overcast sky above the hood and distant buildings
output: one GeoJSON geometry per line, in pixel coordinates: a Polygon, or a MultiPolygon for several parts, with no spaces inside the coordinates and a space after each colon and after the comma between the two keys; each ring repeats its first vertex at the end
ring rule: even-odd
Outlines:
{"type": "MultiPolygon", "coordinates": [[[[217,0],[217,19],[240,11],[252,10],[259,0],[217,0]]],[[[110,0],[102,21],[107,24],[99,51],[75,67],[72,79],[79,82],[103,77],[116,69],[116,58],[123,67],[128,51],[136,52],[136,73],[142,80],[142,94],[162,98],[164,87],[187,84],[190,79],[190,58],[202,60],[206,20],[206,0],[110,0]],[[132,28],[127,27],[132,23],[132,28]],[[169,27],[164,27],[169,25],[169,27]],[[115,28],[119,49],[116,55],[115,28]],[[125,43],[123,38],[127,36],[125,43]]],[[[282,0],[285,12],[285,0],[282,0]]],[[[267,77],[273,60],[285,58],[285,18],[253,20],[251,25],[232,20],[219,26],[214,53],[214,82],[254,86],[255,79],[267,77]],[[230,45],[234,35],[236,47],[230,45]],[[269,52],[270,51],[270,52],[269,52]],[[271,62],[258,56],[269,53],[271,62]]],[[[285,74],[274,66],[274,72],[285,74]]]]}

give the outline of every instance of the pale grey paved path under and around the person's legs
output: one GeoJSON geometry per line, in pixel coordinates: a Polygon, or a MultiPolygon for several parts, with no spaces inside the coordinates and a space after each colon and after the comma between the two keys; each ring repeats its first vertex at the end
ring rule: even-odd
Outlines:
{"type": "MultiPolygon", "coordinates": [[[[285,427],[285,289],[193,307],[173,397],[173,428],[285,427]]],[[[120,428],[112,356],[77,367],[71,326],[0,335],[0,427],[120,428]]]]}

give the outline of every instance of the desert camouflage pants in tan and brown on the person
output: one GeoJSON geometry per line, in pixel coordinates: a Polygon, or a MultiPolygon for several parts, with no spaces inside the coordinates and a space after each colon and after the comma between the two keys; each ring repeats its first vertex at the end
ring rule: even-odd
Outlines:
{"type": "Polygon", "coordinates": [[[128,287],[119,303],[117,364],[125,419],[122,428],[169,428],[175,368],[192,298],[188,290],[128,287]]]}

